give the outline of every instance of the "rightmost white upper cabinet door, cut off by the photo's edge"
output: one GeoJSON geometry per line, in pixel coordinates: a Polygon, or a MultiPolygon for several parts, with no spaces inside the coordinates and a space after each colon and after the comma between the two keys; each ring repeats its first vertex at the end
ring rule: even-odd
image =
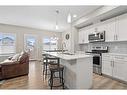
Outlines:
{"type": "Polygon", "coordinates": [[[118,41],[127,41],[127,14],[117,17],[116,32],[118,41]]]}

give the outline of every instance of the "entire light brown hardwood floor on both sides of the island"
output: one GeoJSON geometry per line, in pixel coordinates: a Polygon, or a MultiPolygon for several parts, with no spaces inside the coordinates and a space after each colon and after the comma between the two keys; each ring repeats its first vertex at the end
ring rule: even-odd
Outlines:
{"type": "MultiPolygon", "coordinates": [[[[49,89],[47,80],[43,80],[41,64],[37,61],[30,62],[28,76],[1,81],[0,89],[49,89]]],[[[94,74],[92,89],[127,89],[127,84],[94,74]]]]}

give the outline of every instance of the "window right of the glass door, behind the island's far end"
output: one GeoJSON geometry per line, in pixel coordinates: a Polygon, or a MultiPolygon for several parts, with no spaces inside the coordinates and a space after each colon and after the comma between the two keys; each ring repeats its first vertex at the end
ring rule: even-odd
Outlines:
{"type": "Polygon", "coordinates": [[[43,39],[43,50],[56,50],[57,40],[58,38],[56,37],[44,38],[43,39]]]}

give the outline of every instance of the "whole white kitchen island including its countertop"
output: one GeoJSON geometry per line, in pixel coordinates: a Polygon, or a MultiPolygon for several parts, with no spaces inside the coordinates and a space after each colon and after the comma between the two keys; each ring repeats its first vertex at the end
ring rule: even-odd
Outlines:
{"type": "Polygon", "coordinates": [[[46,52],[60,58],[60,64],[65,66],[65,86],[69,89],[89,89],[92,87],[93,62],[91,55],[62,54],[46,52]]]}

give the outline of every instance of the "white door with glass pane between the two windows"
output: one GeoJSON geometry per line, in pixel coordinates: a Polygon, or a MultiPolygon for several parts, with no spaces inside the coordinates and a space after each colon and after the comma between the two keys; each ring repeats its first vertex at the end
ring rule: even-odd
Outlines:
{"type": "Polygon", "coordinates": [[[24,35],[24,49],[29,52],[30,60],[37,60],[38,48],[37,48],[37,36],[31,34],[24,35]]]}

